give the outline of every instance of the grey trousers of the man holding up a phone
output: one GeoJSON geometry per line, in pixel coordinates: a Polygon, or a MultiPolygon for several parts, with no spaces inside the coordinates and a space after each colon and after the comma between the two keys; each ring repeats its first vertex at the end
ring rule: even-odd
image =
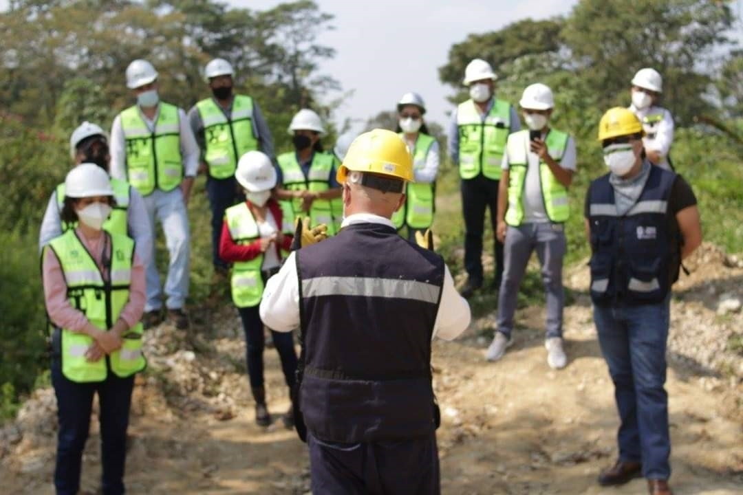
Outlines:
{"type": "Polygon", "coordinates": [[[524,223],[518,227],[508,227],[504,244],[505,268],[498,292],[498,331],[507,338],[510,338],[513,331],[519,286],[534,250],[542,265],[542,283],[547,302],[547,338],[562,337],[562,308],[565,305],[562,258],[565,257],[566,249],[562,225],[524,223]]]}

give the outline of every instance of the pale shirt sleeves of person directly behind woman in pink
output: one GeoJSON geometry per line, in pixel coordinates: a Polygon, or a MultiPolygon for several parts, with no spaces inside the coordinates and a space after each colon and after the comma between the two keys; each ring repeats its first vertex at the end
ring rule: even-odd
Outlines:
{"type": "MultiPolygon", "coordinates": [[[[149,215],[144,206],[142,195],[137,189],[129,186],[129,208],[126,210],[126,231],[134,239],[134,252],[144,266],[149,263],[152,253],[152,229],[149,226],[149,215]]],[[[62,219],[59,217],[59,205],[56,191],[51,193],[42,226],[39,229],[39,252],[52,239],[62,235],[62,219]]]]}

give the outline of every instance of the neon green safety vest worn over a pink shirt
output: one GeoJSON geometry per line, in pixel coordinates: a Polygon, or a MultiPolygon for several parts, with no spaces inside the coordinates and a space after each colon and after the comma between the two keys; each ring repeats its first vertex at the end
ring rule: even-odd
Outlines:
{"type": "MultiPolygon", "coordinates": [[[[67,283],[70,304],[85,313],[91,324],[100,329],[110,329],[119,319],[121,310],[129,301],[129,283],[132,281],[132,259],[134,241],[123,235],[109,235],[111,260],[106,271],[110,281],[104,281],[97,264],[80,242],[74,229],[56,237],[48,248],[52,249],[67,283]]],[[[57,331],[57,330],[55,330],[57,331]]],[[[85,353],[93,344],[93,338],[83,333],[62,329],[62,373],[71,381],[103,381],[108,370],[125,378],[141,371],[146,366],[142,355],[142,324],[137,323],[123,335],[123,344],[108,356],[91,363],[85,353]]]]}

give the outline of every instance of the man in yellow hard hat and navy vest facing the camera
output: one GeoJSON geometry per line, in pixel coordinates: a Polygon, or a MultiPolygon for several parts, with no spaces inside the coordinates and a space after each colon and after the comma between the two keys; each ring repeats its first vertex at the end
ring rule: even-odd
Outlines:
{"type": "Polygon", "coordinates": [[[647,160],[632,111],[607,111],[598,137],[609,173],[588,188],[585,229],[594,322],[620,416],[619,459],[598,481],[644,476],[650,494],[669,495],[669,300],[681,260],[701,243],[699,212],[689,184],[647,160]]]}

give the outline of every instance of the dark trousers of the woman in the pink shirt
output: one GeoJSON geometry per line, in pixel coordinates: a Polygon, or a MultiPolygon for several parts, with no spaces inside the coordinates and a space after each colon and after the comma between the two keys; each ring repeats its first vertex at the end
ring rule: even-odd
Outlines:
{"type": "Polygon", "coordinates": [[[134,376],[119,378],[109,369],[105,381],[77,383],[65,378],[62,375],[61,364],[55,361],[51,367],[51,382],[56,393],[59,419],[54,468],[57,495],[75,495],[80,489],[82,450],[88,439],[95,393],[98,393],[100,406],[103,494],[123,494],[126,428],[129,426],[134,376]]]}

